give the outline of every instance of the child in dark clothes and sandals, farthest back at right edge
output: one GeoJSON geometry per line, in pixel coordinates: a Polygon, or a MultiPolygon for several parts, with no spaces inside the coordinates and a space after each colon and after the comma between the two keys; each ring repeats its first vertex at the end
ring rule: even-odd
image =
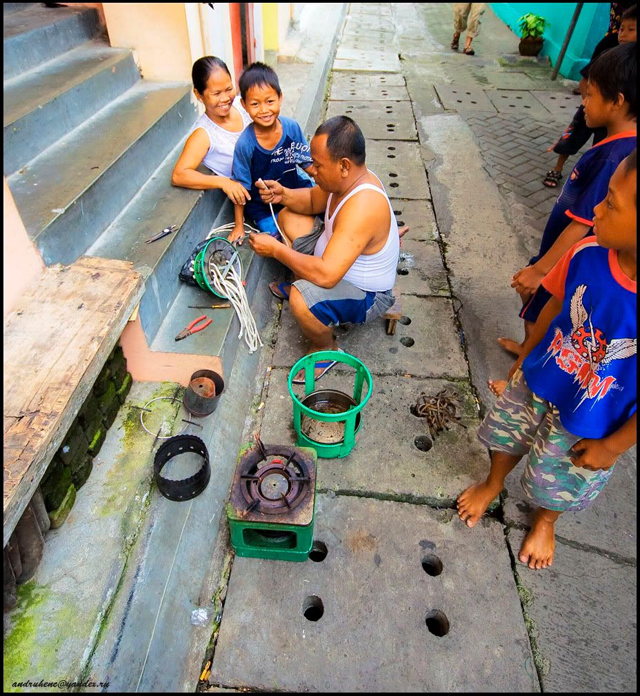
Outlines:
{"type": "MultiPolygon", "coordinates": [[[[593,65],[600,54],[604,53],[610,48],[616,47],[618,44],[623,45],[625,43],[632,43],[636,40],[636,6],[628,8],[621,17],[621,23],[616,26],[615,31],[611,31],[611,26],[609,26],[609,32],[605,35],[600,43],[593,50],[593,56],[591,56],[591,61],[580,70],[582,79],[579,84],[579,94],[582,95],[584,99],[586,95],[586,84],[589,79],[589,69],[593,65]]],[[[565,162],[570,157],[570,155],[575,155],[576,152],[586,141],[593,135],[593,145],[599,143],[603,138],[607,137],[606,128],[590,128],[586,125],[584,120],[584,106],[582,104],[578,107],[573,116],[573,120],[568,125],[567,129],[561,135],[559,141],[552,147],[549,148],[548,152],[555,152],[558,155],[558,161],[553,169],[550,169],[545,175],[543,184],[547,188],[555,189],[558,186],[558,182],[562,178],[562,169],[565,162]]]]}

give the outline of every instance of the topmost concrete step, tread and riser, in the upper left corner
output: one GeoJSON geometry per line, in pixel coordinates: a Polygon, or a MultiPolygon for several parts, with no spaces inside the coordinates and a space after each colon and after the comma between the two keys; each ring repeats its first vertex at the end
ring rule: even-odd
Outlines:
{"type": "MultiPolygon", "coordinates": [[[[17,3],[15,3],[17,4],[17,3]]],[[[100,33],[96,10],[42,5],[4,13],[3,79],[47,63],[100,33]]]]}

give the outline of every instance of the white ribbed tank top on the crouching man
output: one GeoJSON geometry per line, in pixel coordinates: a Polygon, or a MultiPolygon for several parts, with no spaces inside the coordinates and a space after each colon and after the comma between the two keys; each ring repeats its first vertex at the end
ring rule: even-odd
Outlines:
{"type": "MultiPolygon", "coordinates": [[[[374,174],[373,172],[369,173],[374,174]]],[[[376,175],[374,174],[374,176],[376,175]]],[[[377,176],[376,179],[378,179],[377,176]]],[[[380,182],[379,179],[378,182],[380,182]]],[[[338,203],[332,216],[329,216],[329,208],[333,193],[329,194],[327,209],[324,214],[324,231],[316,242],[314,255],[323,255],[324,250],[327,248],[329,239],[333,236],[333,222],[340,212],[340,208],[342,208],[349,198],[365,189],[378,191],[381,196],[387,199],[389,211],[391,213],[389,236],[387,237],[385,246],[383,246],[380,251],[376,251],[376,253],[369,255],[360,254],[353,262],[353,266],[351,266],[349,271],[346,271],[344,280],[348,280],[351,285],[355,285],[355,287],[359,287],[360,290],[365,290],[366,292],[387,292],[387,290],[393,290],[393,286],[396,282],[398,258],[400,255],[400,237],[398,236],[398,221],[396,220],[391,201],[389,200],[389,196],[387,196],[382,182],[380,182],[380,188],[374,186],[374,184],[360,184],[360,186],[355,187],[344,200],[338,203]]]]}

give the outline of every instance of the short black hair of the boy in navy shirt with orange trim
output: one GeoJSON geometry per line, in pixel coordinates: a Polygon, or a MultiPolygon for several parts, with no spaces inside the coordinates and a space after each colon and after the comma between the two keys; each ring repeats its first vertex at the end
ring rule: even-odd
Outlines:
{"type": "Polygon", "coordinates": [[[600,54],[589,68],[589,82],[610,102],[623,94],[632,116],[636,116],[636,56],[636,42],[623,44],[600,54]]]}

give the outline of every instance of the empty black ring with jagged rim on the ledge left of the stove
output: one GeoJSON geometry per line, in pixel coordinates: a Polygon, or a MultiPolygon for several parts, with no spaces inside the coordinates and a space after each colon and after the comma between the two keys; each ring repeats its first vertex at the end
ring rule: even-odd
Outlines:
{"type": "Polygon", "coordinates": [[[156,452],[153,462],[154,477],[158,490],[169,500],[191,500],[200,495],[207,488],[211,477],[211,467],[209,466],[209,452],[205,443],[195,435],[176,435],[165,441],[156,452]],[[165,464],[177,457],[179,454],[189,454],[193,452],[202,457],[200,470],[189,478],[174,481],[166,479],[161,475],[161,470],[165,464]]]}

